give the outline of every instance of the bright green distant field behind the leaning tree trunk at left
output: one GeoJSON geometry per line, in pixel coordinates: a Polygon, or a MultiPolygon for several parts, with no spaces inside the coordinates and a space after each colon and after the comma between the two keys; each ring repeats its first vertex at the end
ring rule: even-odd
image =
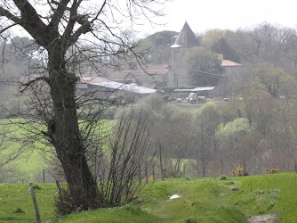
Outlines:
{"type": "MultiPolygon", "coordinates": [[[[8,172],[9,170],[13,171],[12,178],[8,178],[2,180],[0,177],[1,182],[12,182],[12,183],[29,183],[29,182],[43,182],[43,169],[47,169],[48,163],[45,161],[44,156],[46,158],[49,157],[48,153],[44,153],[44,151],[53,151],[51,146],[46,146],[42,144],[40,141],[36,141],[32,144],[26,144],[18,139],[24,139],[28,137],[28,135],[33,135],[36,129],[34,128],[34,124],[24,124],[22,126],[22,122],[27,122],[28,120],[0,120],[0,133],[7,136],[7,138],[3,138],[0,136],[0,143],[4,139],[5,142],[3,145],[0,145],[0,166],[1,161],[7,160],[13,152],[18,151],[20,147],[23,146],[22,152],[20,156],[10,163],[4,166],[3,171],[8,172]],[[12,122],[15,122],[14,124],[12,122]],[[32,127],[33,128],[28,128],[32,127]],[[31,133],[25,131],[24,128],[30,129],[31,133]],[[5,149],[7,148],[7,149],[5,149]]],[[[106,129],[109,129],[112,123],[115,123],[114,120],[101,120],[101,129],[98,129],[100,135],[107,134],[106,129]]],[[[81,125],[83,126],[84,123],[82,121],[81,125]]],[[[36,124],[36,127],[38,125],[36,124]]],[[[26,142],[26,141],[25,141],[26,142]]],[[[0,176],[1,176],[0,169],[0,176]]],[[[46,172],[45,172],[46,178],[46,172]]],[[[46,182],[46,180],[45,180],[46,182]]],[[[47,181],[51,182],[51,181],[47,181]]],[[[53,181],[52,181],[53,182],[53,181]]]]}

